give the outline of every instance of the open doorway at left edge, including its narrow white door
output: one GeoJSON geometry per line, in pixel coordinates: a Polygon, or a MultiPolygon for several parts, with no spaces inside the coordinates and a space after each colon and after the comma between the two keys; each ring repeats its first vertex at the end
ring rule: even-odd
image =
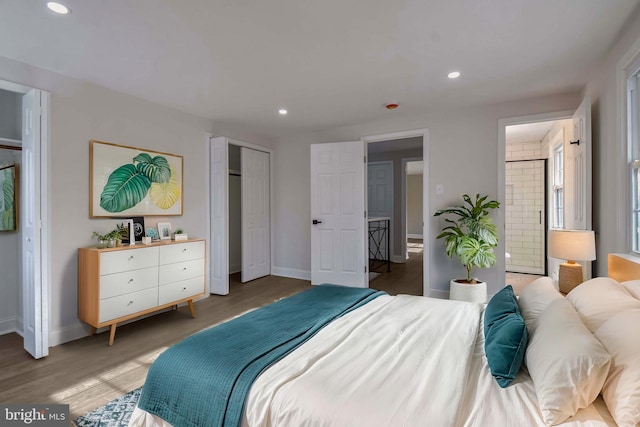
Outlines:
{"type": "Polygon", "coordinates": [[[13,227],[5,218],[6,193],[2,203],[6,230],[0,233],[0,267],[6,282],[0,295],[0,329],[22,335],[24,349],[37,359],[49,354],[50,95],[7,81],[0,81],[0,92],[1,162],[10,166],[5,172],[14,171],[15,195],[9,203],[13,227]]]}

